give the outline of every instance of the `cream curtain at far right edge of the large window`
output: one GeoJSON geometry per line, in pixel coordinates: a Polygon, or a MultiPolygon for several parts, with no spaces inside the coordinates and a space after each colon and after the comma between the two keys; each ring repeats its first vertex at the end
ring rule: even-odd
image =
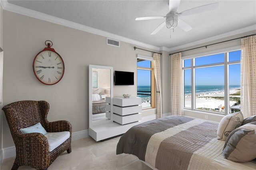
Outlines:
{"type": "Polygon", "coordinates": [[[256,115],[256,36],[242,38],[241,111],[245,117],[256,115]]]}

